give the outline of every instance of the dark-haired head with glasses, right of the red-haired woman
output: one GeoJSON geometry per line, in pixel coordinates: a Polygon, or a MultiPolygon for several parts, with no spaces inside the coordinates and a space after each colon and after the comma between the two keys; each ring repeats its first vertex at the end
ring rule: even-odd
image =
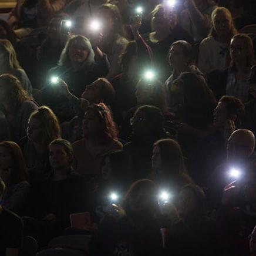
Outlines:
{"type": "Polygon", "coordinates": [[[139,107],[131,119],[133,139],[147,138],[147,143],[154,143],[166,136],[164,116],[158,107],[144,105],[139,107]],[[153,140],[153,142],[151,141],[153,140]]]}

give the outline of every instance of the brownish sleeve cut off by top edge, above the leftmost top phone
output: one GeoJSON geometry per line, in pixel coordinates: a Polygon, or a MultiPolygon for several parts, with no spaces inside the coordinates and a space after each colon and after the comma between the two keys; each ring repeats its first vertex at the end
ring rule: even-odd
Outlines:
{"type": "Polygon", "coordinates": [[[50,16],[65,8],[66,0],[38,0],[38,8],[43,16],[50,16]]]}

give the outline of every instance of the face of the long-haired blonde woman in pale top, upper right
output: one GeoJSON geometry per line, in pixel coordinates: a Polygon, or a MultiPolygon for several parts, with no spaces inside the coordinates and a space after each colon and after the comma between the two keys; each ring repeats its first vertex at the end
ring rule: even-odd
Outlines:
{"type": "Polygon", "coordinates": [[[217,35],[225,35],[231,30],[231,17],[227,12],[218,12],[213,17],[213,27],[217,35]]]}

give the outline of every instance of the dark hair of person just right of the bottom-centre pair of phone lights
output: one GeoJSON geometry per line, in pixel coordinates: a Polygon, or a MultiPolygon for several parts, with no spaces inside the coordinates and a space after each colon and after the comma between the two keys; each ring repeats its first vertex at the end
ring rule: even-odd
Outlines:
{"type": "Polygon", "coordinates": [[[197,216],[198,217],[205,217],[206,216],[206,210],[207,210],[207,201],[206,201],[206,194],[204,194],[204,191],[202,188],[198,187],[196,184],[187,184],[182,190],[188,189],[193,192],[194,196],[196,196],[197,199],[197,216]]]}

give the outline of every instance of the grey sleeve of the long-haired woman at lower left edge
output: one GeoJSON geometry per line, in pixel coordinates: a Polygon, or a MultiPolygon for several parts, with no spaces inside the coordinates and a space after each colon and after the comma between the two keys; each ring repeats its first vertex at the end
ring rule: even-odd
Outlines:
{"type": "Polygon", "coordinates": [[[10,211],[18,211],[26,201],[29,193],[29,184],[18,184],[11,197],[6,198],[5,207],[10,211]]]}

